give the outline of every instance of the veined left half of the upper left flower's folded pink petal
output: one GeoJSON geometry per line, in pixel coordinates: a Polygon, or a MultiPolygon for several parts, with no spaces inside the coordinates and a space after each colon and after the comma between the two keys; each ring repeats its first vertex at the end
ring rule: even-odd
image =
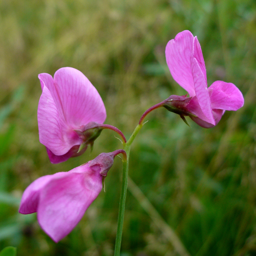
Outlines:
{"type": "Polygon", "coordinates": [[[63,155],[69,149],[80,144],[81,139],[75,131],[67,131],[59,119],[59,113],[47,86],[38,103],[39,141],[49,148],[55,155],[63,155]]]}

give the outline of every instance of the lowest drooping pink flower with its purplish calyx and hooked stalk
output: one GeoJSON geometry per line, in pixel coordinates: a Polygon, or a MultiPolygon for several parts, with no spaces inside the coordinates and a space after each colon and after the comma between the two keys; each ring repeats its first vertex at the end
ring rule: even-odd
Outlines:
{"type": "Polygon", "coordinates": [[[124,150],[102,153],[69,172],[57,172],[36,179],[24,191],[19,212],[37,212],[41,228],[53,241],[67,236],[102,189],[102,180],[114,157],[124,150]]]}

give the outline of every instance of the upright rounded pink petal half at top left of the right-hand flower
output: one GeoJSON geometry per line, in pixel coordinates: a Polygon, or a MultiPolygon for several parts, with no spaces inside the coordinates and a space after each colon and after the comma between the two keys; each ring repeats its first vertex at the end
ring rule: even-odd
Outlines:
{"type": "Polygon", "coordinates": [[[190,55],[193,35],[185,30],[168,42],[165,55],[166,62],[174,80],[184,88],[189,96],[195,96],[193,76],[190,67],[190,55]]]}

